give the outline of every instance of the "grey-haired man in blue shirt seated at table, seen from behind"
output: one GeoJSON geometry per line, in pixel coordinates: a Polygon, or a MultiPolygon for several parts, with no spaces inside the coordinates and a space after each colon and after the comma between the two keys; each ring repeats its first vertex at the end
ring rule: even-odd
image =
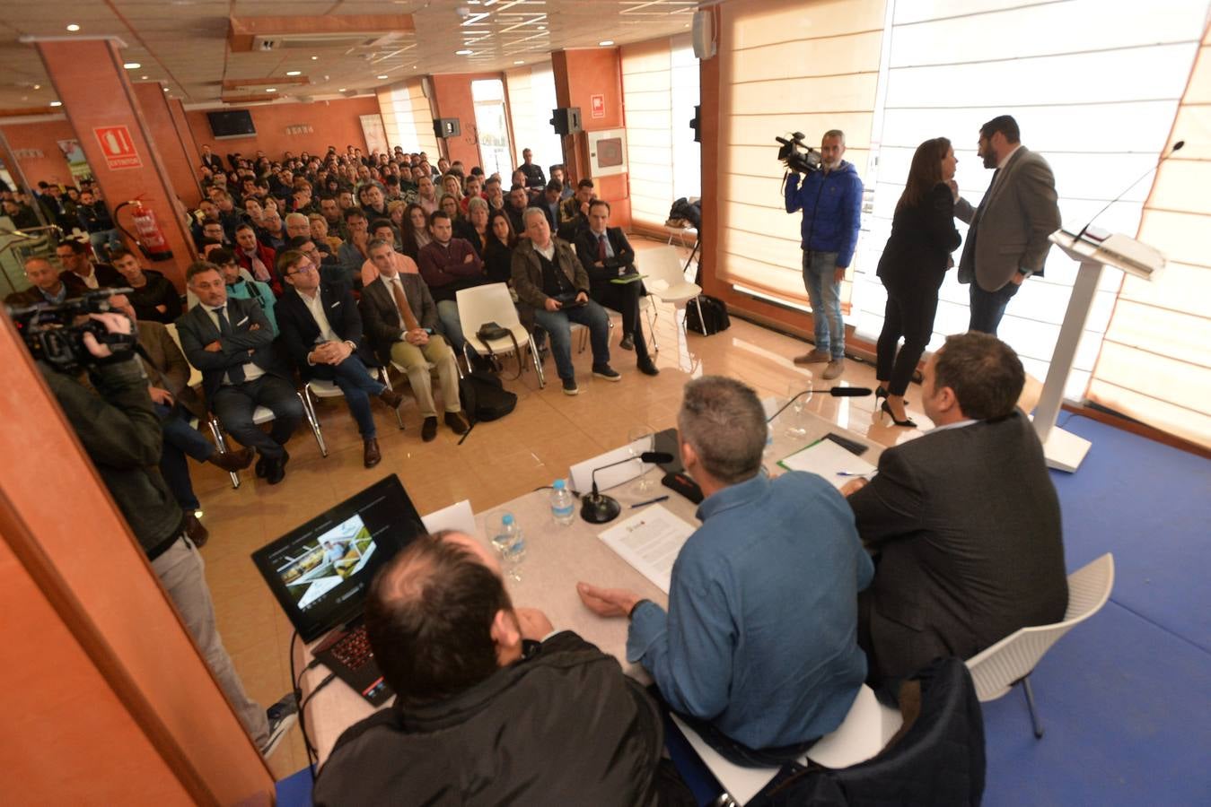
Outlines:
{"type": "Polygon", "coordinates": [[[831,484],[762,472],[765,413],[751,388],[690,381],[677,426],[706,498],[673,564],[668,612],[631,592],[576,590],[601,616],[630,615],[627,658],[721,754],[797,759],[840,725],[866,678],[857,593],[873,565],[831,484]]]}

